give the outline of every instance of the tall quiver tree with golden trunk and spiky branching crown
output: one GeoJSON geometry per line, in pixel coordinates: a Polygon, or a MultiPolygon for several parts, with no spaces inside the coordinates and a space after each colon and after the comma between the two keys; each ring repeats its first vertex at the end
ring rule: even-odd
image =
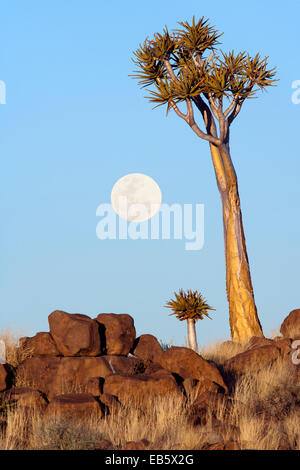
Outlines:
{"type": "Polygon", "coordinates": [[[254,300],[240,207],[236,172],[231,160],[229,131],[244,102],[257,91],[273,85],[275,69],[268,69],[267,57],[246,52],[224,53],[216,46],[221,34],[201,18],[192,24],[179,22],[182,29],[169,34],[165,28],[153,39],[140,44],[133,62],[133,78],[150,89],[149,100],[167,105],[201,139],[209,143],[223,209],[226,288],[233,341],[245,342],[263,336],[254,300]],[[182,112],[178,103],[186,103],[182,112]],[[195,120],[201,113],[206,131],[195,120]]]}

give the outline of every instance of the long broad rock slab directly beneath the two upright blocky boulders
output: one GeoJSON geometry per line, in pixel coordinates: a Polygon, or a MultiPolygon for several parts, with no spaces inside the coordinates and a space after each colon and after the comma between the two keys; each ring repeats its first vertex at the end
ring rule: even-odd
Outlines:
{"type": "Polygon", "coordinates": [[[105,378],[113,373],[134,374],[140,360],[129,357],[31,357],[17,369],[19,383],[40,390],[48,397],[84,391],[92,377],[105,378]]]}

